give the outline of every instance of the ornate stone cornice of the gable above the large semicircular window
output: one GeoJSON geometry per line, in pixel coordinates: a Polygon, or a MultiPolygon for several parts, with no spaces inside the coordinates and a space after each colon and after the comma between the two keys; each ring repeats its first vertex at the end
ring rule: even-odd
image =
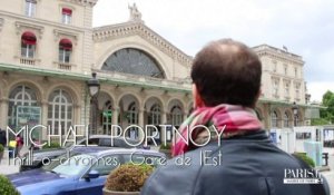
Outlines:
{"type": "Polygon", "coordinates": [[[188,67],[191,65],[191,57],[187,56],[185,52],[173,46],[166,39],[145,26],[143,22],[125,22],[120,25],[98,27],[94,28],[92,33],[94,41],[96,42],[129,36],[140,36],[143,39],[156,46],[157,48],[159,48],[159,50],[161,50],[173,59],[188,67]]]}

